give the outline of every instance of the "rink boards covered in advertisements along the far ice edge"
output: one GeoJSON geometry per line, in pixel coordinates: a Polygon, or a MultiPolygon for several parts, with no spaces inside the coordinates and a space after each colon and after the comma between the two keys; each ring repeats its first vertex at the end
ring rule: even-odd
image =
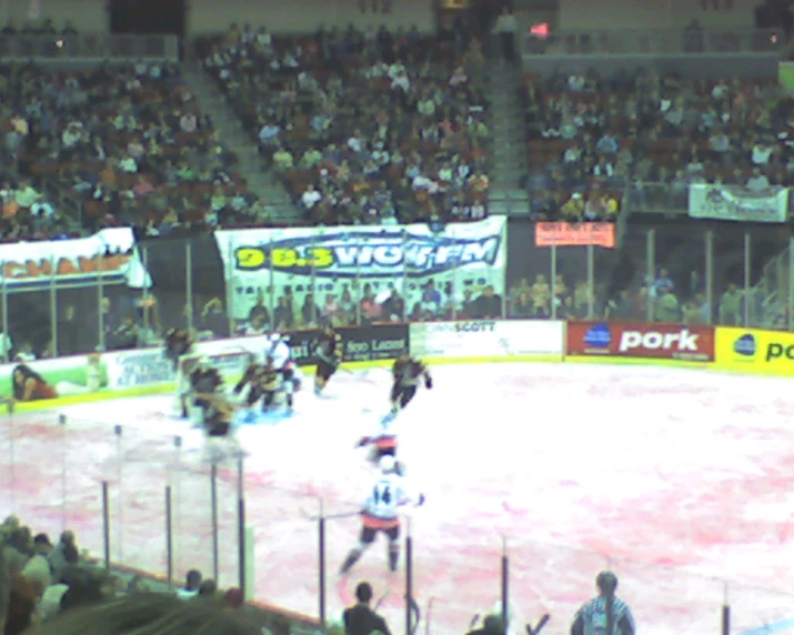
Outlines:
{"type": "MultiPolygon", "coordinates": [[[[349,369],[389,365],[402,352],[430,364],[495,362],[579,362],[657,364],[750,374],[794,374],[794,334],[680,324],[559,320],[458,320],[414,324],[341,327],[343,363],[349,369]]],[[[288,334],[295,361],[313,365],[318,330],[288,334]]],[[[197,355],[222,364],[237,381],[251,355],[262,357],[267,336],[213,340],[197,344],[197,355]],[[228,366],[228,367],[227,367],[228,366]]],[[[79,355],[29,363],[59,399],[19,403],[34,410],[119,396],[168,392],[175,373],[162,347],[79,355]],[[99,365],[101,387],[88,386],[89,365],[99,365]]],[[[17,364],[0,365],[0,400],[11,397],[17,364]]]]}

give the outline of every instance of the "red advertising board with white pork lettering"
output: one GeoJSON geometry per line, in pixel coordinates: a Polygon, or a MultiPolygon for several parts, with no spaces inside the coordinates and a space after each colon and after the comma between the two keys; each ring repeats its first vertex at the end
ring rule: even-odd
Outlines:
{"type": "Polygon", "coordinates": [[[677,324],[569,322],[566,347],[570,356],[712,362],[714,329],[677,324]]]}

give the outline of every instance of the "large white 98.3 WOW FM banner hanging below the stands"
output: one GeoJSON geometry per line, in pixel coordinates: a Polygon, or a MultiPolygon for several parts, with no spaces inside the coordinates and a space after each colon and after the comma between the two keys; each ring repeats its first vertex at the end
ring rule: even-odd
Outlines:
{"type": "Polygon", "coordinates": [[[255,304],[272,310],[288,291],[300,308],[314,290],[322,309],[329,294],[344,301],[349,292],[359,302],[372,292],[380,303],[396,289],[409,312],[431,280],[442,292],[448,284],[455,294],[491,285],[503,295],[506,230],[506,218],[495,216],[440,232],[426,224],[291,228],[223,230],[215,239],[233,316],[245,320],[255,304]]]}

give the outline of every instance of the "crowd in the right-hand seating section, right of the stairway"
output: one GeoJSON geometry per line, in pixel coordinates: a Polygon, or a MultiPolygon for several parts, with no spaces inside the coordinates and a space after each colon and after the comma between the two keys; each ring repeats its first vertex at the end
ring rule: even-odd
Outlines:
{"type": "Polygon", "coordinates": [[[539,218],[614,218],[626,195],[641,211],[686,209],[693,183],[794,183],[794,97],[776,80],[591,69],[529,74],[522,94],[539,218]]]}

